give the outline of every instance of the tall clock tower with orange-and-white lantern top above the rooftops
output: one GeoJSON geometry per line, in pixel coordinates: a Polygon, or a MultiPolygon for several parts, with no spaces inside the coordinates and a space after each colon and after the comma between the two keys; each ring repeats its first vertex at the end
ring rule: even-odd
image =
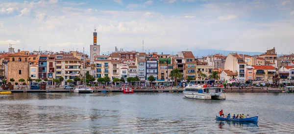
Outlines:
{"type": "Polygon", "coordinates": [[[95,61],[95,56],[100,56],[100,45],[97,45],[97,32],[96,29],[93,33],[93,45],[90,45],[90,62],[95,61]]]}

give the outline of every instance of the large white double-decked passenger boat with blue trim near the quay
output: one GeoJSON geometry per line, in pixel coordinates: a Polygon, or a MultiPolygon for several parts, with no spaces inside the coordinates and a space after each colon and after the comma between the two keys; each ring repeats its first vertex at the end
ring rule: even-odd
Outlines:
{"type": "Polygon", "coordinates": [[[215,79],[192,80],[184,88],[183,94],[185,98],[193,98],[193,99],[203,99],[203,100],[226,99],[226,96],[222,91],[223,85],[215,84],[216,81],[217,80],[215,79]]]}

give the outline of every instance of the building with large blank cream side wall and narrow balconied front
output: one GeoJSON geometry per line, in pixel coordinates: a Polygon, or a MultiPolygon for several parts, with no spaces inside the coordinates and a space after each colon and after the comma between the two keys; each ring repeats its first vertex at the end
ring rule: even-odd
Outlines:
{"type": "Polygon", "coordinates": [[[225,60],[224,69],[231,70],[234,73],[238,74],[239,81],[244,82],[246,78],[246,64],[247,63],[239,54],[230,53],[225,60]]]}

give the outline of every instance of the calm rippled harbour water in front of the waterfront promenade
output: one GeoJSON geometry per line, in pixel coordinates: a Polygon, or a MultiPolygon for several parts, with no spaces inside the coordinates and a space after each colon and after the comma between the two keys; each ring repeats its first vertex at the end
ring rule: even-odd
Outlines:
{"type": "Polygon", "coordinates": [[[227,94],[227,100],[183,98],[182,93],[17,93],[0,96],[5,133],[293,133],[294,94],[227,94]],[[259,122],[215,120],[259,113],[259,122]]]}

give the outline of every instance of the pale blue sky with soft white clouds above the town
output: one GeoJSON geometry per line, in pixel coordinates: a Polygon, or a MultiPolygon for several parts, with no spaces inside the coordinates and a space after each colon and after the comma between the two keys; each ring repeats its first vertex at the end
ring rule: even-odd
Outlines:
{"type": "Polygon", "coordinates": [[[294,53],[294,0],[0,0],[0,51],[294,53]],[[144,39],[144,51],[142,40],[144,39]]]}

